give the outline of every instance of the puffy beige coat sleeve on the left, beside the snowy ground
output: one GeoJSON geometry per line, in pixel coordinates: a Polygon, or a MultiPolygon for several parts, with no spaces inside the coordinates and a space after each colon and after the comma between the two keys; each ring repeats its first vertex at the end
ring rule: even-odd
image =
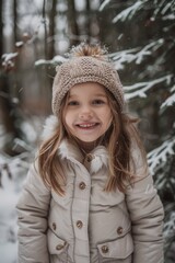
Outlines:
{"type": "Polygon", "coordinates": [[[47,251],[47,216],[50,191],[32,165],[18,202],[19,263],[49,263],[47,251]]]}

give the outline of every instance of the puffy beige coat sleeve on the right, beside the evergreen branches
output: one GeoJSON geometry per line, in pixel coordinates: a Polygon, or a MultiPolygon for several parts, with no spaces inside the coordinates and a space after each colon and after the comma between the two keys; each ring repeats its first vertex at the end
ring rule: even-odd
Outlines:
{"type": "Polygon", "coordinates": [[[126,202],[132,224],[133,263],[163,263],[164,210],[150,174],[128,187],[126,202]]]}

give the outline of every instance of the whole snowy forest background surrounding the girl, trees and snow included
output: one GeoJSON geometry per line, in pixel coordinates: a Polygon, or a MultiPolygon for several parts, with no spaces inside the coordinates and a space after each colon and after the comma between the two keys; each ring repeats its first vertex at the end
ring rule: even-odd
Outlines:
{"type": "Polygon", "coordinates": [[[15,204],[51,114],[55,67],[81,41],[108,47],[165,208],[175,262],[175,1],[0,1],[0,262],[15,263],[15,204]]]}

